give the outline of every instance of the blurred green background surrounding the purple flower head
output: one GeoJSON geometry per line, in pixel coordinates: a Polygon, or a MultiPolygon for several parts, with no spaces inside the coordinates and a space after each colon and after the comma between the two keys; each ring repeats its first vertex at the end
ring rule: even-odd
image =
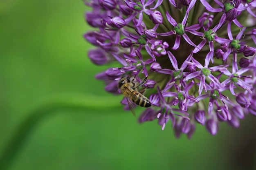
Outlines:
{"type": "Polygon", "coordinates": [[[87,10],[80,0],[0,0],[2,170],[256,169],[255,117],[216,136],[198,125],[189,140],[124,111],[94,79],[107,67],[87,57],[87,10]],[[51,110],[58,97],[86,104],[51,110]]]}

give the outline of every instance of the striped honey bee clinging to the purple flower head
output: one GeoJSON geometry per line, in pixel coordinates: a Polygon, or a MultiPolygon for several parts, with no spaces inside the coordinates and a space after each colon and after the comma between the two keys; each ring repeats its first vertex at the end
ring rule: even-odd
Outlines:
{"type": "Polygon", "coordinates": [[[138,88],[146,82],[147,77],[145,77],[145,79],[136,87],[134,83],[135,77],[132,79],[132,81],[130,81],[130,77],[123,78],[118,83],[118,88],[120,88],[121,93],[126,97],[128,105],[134,116],[135,112],[132,102],[145,108],[151,106],[150,100],[143,95],[145,88],[142,88],[141,91],[138,91],[138,88]]]}

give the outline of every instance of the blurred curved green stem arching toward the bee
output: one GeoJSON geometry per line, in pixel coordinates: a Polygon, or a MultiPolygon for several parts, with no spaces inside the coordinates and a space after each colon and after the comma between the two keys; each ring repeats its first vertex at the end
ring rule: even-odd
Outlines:
{"type": "MultiPolygon", "coordinates": [[[[7,146],[0,155],[0,170],[7,170],[14,157],[17,155],[25,139],[28,137],[33,127],[38,124],[42,118],[51,115],[57,110],[99,110],[121,108],[119,97],[113,100],[113,97],[83,96],[83,95],[56,95],[45,97],[31,109],[16,131],[8,140],[7,146]]],[[[104,113],[104,112],[99,112],[104,113]]]]}

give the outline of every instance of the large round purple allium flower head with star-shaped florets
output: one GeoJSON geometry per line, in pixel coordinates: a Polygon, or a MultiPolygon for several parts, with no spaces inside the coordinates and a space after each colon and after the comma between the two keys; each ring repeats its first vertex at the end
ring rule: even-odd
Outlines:
{"type": "MultiPolygon", "coordinates": [[[[106,91],[120,94],[122,77],[135,77],[152,106],[139,122],[170,120],[179,137],[195,123],[216,135],[226,121],[256,115],[256,0],[93,0],[85,18],[97,31],[84,38],[106,91]]],[[[128,108],[127,102],[121,102],[128,108]]]]}

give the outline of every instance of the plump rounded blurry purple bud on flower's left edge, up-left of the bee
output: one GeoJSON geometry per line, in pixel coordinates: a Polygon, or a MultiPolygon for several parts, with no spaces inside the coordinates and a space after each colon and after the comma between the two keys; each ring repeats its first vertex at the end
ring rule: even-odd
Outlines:
{"type": "Polygon", "coordinates": [[[89,58],[94,64],[102,65],[108,62],[105,51],[102,49],[92,49],[88,53],[89,58]]]}

